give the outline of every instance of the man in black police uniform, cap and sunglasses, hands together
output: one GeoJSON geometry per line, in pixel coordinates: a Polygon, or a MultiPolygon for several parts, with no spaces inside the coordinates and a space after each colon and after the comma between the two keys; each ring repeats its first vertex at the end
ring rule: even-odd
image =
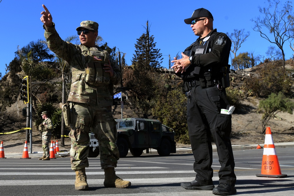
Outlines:
{"type": "Polygon", "coordinates": [[[213,16],[204,9],[196,9],[189,24],[197,40],[182,52],[183,58],[174,58],[176,75],[183,78],[187,95],[187,123],[194,155],[196,178],[182,182],[190,190],[213,190],[215,195],[236,193],[234,157],[229,139],[231,115],[222,114],[228,109],[225,87],[229,86],[228,60],[231,41],[225,33],[213,29],[213,16]],[[212,145],[216,143],[220,162],[219,185],[214,187],[212,177],[212,145]]]}

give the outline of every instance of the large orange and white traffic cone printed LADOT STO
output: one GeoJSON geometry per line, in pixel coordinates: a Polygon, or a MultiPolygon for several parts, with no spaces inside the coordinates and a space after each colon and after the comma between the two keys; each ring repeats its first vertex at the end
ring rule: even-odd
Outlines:
{"type": "Polygon", "coordinates": [[[265,142],[263,147],[263,157],[261,165],[261,174],[256,174],[257,177],[287,177],[281,173],[278,156],[275,152],[275,144],[270,128],[265,130],[265,142]]]}

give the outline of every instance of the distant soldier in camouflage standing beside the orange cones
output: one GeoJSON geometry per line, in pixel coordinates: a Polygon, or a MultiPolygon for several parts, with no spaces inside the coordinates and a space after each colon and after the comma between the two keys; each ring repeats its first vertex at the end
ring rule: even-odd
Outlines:
{"type": "Polygon", "coordinates": [[[44,111],[41,114],[42,118],[44,119],[43,123],[39,125],[39,130],[42,132],[42,149],[43,149],[43,156],[39,158],[39,160],[50,160],[49,155],[49,142],[51,140],[51,130],[52,130],[52,122],[51,119],[48,118],[48,112],[44,111]]]}

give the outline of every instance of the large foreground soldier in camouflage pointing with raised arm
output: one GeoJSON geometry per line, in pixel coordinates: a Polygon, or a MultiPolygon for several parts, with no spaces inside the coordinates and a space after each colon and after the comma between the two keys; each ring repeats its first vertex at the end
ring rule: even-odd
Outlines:
{"type": "Polygon", "coordinates": [[[48,47],[71,66],[72,81],[69,93],[71,111],[71,168],[76,172],[75,189],[88,190],[85,167],[89,166],[89,131],[92,128],[99,142],[101,168],[105,187],[125,188],[131,182],[122,180],[114,168],[119,159],[116,145],[116,122],[111,113],[113,85],[121,81],[121,71],[107,51],[95,45],[98,23],[82,21],[76,29],[81,44],[63,41],[55,30],[52,16],[46,6],[42,11],[45,38],[48,47]]]}

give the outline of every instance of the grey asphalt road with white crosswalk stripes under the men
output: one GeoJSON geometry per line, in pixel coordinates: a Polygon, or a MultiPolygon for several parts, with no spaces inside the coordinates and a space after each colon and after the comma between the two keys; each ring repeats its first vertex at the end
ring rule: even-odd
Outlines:
{"type": "MultiPolygon", "coordinates": [[[[293,195],[294,148],[276,148],[282,174],[286,178],[256,177],[261,172],[263,149],[235,150],[236,195],[293,195]]],[[[213,195],[212,191],[185,190],[181,182],[195,179],[192,154],[127,156],[118,160],[116,174],[132,182],[126,189],[105,188],[100,159],[89,158],[86,168],[88,191],[74,190],[75,173],[70,158],[50,161],[38,158],[0,159],[0,195],[213,195]]],[[[214,185],[218,185],[217,153],[213,157],[214,185]]]]}

